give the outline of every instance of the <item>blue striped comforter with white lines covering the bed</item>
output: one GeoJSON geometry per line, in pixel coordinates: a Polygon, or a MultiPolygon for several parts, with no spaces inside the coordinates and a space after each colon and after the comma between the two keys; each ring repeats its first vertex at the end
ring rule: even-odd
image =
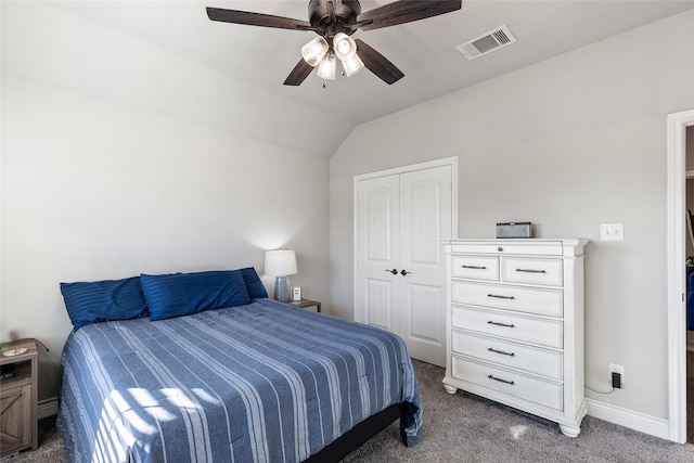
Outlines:
{"type": "Polygon", "coordinates": [[[70,334],[59,428],[70,462],[297,462],[421,396],[402,340],[270,299],[70,334]]]}

